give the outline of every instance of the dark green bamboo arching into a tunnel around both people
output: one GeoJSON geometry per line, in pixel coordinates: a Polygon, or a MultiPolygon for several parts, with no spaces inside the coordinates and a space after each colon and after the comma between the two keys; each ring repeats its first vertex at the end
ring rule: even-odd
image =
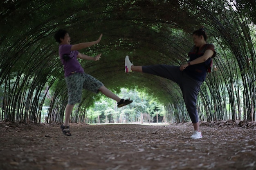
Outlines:
{"type": "Polygon", "coordinates": [[[215,71],[207,75],[198,97],[200,119],[227,119],[230,114],[233,120],[255,120],[256,115],[250,115],[256,103],[255,9],[253,0],[1,1],[0,120],[38,121],[45,105],[49,106],[48,122],[63,121],[67,91],[53,38],[63,28],[69,31],[72,44],[94,41],[103,33],[99,44],[80,51],[91,56],[102,53],[101,60],[80,61],[81,65],[112,91],[134,99],[116,113],[119,109],[112,108],[115,104],[110,100],[101,106],[95,102],[101,101],[101,95],[84,91],[73,121],[88,117],[94,123],[98,116],[101,123],[120,117],[135,121],[140,113],[155,115],[163,110],[170,122],[189,121],[176,84],[143,73],[125,74],[124,57],[129,55],[135,65],[180,65],[193,45],[191,33],[201,25],[217,56],[215,71]],[[123,93],[123,88],[129,90],[123,93]],[[94,113],[89,107],[108,111],[94,113]]]}

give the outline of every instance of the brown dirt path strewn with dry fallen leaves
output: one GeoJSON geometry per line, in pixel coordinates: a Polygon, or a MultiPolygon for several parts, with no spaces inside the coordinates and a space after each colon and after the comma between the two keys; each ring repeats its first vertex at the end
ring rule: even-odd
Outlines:
{"type": "Polygon", "coordinates": [[[0,124],[0,170],[256,170],[256,126],[0,124]],[[240,127],[242,126],[242,127],[240,127]]]}

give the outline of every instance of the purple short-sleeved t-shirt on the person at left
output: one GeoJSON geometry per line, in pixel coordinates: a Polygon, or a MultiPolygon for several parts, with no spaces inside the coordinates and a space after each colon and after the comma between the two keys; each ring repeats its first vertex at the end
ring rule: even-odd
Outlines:
{"type": "Polygon", "coordinates": [[[64,76],[67,77],[71,75],[71,72],[83,73],[83,68],[79,61],[77,60],[78,51],[71,51],[72,45],[62,44],[58,47],[58,54],[61,58],[61,63],[64,66],[64,76]],[[67,55],[68,60],[64,60],[63,56],[67,55]]]}

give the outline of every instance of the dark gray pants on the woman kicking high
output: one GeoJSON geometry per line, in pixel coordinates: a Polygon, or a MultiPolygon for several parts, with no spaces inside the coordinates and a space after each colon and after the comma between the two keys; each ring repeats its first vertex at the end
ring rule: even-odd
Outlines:
{"type": "Polygon", "coordinates": [[[202,82],[192,79],[185,72],[180,71],[180,66],[166,64],[142,66],[142,72],[170,79],[180,86],[192,123],[199,121],[196,102],[202,82]]]}

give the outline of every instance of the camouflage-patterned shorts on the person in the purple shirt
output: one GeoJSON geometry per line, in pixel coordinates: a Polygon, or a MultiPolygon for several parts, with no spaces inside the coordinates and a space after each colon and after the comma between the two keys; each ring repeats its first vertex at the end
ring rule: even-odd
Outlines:
{"type": "Polygon", "coordinates": [[[99,93],[103,83],[96,78],[85,73],[74,73],[65,77],[67,84],[68,104],[76,104],[81,102],[82,90],[87,89],[94,93],[99,93]]]}

